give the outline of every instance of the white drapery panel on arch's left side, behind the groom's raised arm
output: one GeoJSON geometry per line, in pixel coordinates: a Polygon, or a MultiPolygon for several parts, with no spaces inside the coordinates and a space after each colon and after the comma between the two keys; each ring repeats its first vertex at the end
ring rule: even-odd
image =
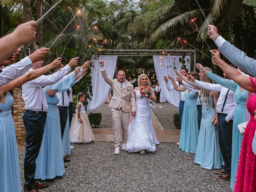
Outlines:
{"type": "Polygon", "coordinates": [[[91,70],[91,76],[92,76],[92,100],[88,101],[89,104],[87,106],[87,113],[89,114],[90,111],[96,110],[106,100],[109,91],[110,86],[104,81],[102,78],[101,72],[100,72],[100,65],[99,61],[104,61],[104,68],[106,70],[106,73],[110,78],[114,77],[115,69],[116,69],[116,61],[117,56],[100,56],[96,57],[96,59],[92,59],[92,70],[91,70]]]}

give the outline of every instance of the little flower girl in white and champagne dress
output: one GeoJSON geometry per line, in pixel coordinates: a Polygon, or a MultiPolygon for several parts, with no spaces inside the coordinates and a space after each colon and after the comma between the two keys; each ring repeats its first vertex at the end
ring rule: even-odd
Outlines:
{"type": "Polygon", "coordinates": [[[90,143],[94,141],[94,135],[83,103],[85,94],[79,93],[77,97],[76,114],[72,118],[70,126],[71,143],[90,143]]]}

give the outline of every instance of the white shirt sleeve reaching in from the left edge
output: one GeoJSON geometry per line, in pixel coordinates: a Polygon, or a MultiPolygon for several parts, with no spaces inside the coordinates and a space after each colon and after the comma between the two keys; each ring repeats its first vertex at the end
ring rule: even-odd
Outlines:
{"type": "Polygon", "coordinates": [[[0,87],[24,75],[32,66],[33,63],[30,58],[25,57],[20,62],[3,68],[0,73],[0,87]]]}

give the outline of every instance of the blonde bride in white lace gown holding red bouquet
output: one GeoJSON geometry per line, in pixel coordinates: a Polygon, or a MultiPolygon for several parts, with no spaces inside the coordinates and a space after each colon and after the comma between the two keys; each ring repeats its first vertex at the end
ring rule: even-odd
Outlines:
{"type": "Polygon", "coordinates": [[[140,154],[145,154],[145,150],[148,152],[154,152],[154,150],[156,150],[156,144],[159,144],[152,125],[149,101],[151,99],[156,102],[156,97],[155,94],[150,94],[148,97],[140,98],[140,90],[146,86],[150,87],[149,79],[146,74],[141,74],[139,76],[138,85],[138,87],[134,88],[134,96],[136,98],[136,116],[132,119],[126,143],[126,151],[130,153],[140,151],[140,154]]]}

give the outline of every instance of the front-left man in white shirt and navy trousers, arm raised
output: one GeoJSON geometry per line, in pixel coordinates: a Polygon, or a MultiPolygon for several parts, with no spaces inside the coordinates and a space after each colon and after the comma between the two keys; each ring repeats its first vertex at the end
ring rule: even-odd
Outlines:
{"type": "MultiPolygon", "coordinates": [[[[61,64],[62,59],[57,58],[53,62],[61,64]]],[[[34,66],[29,70],[32,71],[42,67],[43,62],[34,62],[34,66]]],[[[42,75],[32,81],[22,85],[22,97],[25,102],[25,112],[23,114],[23,122],[26,128],[26,154],[24,159],[24,192],[38,192],[38,189],[46,188],[46,184],[38,184],[34,182],[36,171],[36,158],[39,154],[42,137],[44,134],[44,125],[48,104],[44,96],[42,86],[49,86],[61,80],[65,74],[78,64],[77,60],[72,59],[68,65],[61,68],[52,75],[42,75]]],[[[28,72],[29,72],[28,71],[28,72]]]]}

